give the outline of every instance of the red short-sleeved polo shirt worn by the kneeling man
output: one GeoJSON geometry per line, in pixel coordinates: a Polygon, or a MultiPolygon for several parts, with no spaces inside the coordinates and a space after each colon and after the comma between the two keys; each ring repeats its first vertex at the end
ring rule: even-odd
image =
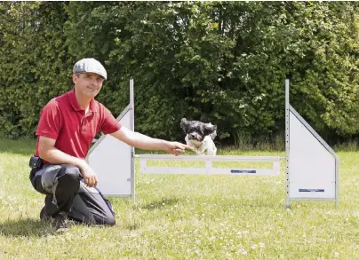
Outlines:
{"type": "MultiPolygon", "coordinates": [[[[84,159],[96,134],[102,131],[111,134],[121,128],[121,124],[108,108],[92,98],[87,114],[78,106],[75,90],[52,98],[40,114],[37,126],[36,152],[38,156],[39,137],[56,140],[60,151],[84,159]]],[[[46,162],[45,162],[46,163],[46,162]]]]}

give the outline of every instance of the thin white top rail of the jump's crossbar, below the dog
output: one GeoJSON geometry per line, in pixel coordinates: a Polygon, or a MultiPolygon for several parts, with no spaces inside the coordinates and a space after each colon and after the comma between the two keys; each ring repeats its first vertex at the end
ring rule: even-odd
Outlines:
{"type": "Polygon", "coordinates": [[[137,154],[136,158],[144,160],[175,160],[175,161],[241,161],[241,162],[278,162],[284,156],[227,156],[227,155],[172,155],[172,154],[137,154]]]}

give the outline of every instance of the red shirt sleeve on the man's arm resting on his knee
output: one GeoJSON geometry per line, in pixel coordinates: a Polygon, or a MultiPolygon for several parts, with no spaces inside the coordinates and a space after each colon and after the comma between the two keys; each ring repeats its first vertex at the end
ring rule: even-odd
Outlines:
{"type": "Polygon", "coordinates": [[[36,136],[56,139],[60,132],[60,113],[57,102],[52,99],[40,114],[40,121],[37,125],[36,136]]]}

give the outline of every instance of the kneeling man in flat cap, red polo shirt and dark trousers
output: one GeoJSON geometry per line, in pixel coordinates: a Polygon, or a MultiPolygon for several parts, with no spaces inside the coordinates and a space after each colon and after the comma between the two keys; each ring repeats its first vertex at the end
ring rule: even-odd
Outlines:
{"type": "Polygon", "coordinates": [[[57,232],[68,231],[68,218],[86,224],[115,225],[112,207],[96,188],[96,174],[84,160],[98,132],[141,149],[164,150],[175,155],[192,149],[121,126],[94,99],[107,79],[106,69],[98,60],[81,59],[73,72],[73,90],[52,98],[40,114],[36,152],[30,160],[31,184],[46,195],[40,218],[52,219],[57,232]]]}

